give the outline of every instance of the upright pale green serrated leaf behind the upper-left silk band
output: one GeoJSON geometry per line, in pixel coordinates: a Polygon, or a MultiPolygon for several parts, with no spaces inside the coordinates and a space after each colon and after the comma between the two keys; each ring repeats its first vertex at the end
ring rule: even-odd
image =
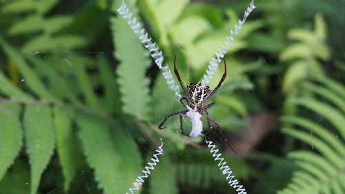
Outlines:
{"type": "Polygon", "coordinates": [[[112,37],[115,45],[115,57],[120,64],[117,67],[117,79],[121,93],[124,113],[137,119],[148,120],[150,108],[149,84],[145,77],[150,66],[148,51],[128,24],[121,17],[111,19],[112,37]]]}

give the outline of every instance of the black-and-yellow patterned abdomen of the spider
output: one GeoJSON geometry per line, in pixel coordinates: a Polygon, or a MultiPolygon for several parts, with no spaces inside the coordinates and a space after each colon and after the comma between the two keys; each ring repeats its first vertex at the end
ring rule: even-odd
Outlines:
{"type": "Polygon", "coordinates": [[[188,99],[193,103],[193,109],[197,108],[197,105],[200,104],[208,95],[210,95],[211,90],[209,86],[203,86],[200,82],[190,83],[187,86],[188,99]]]}

